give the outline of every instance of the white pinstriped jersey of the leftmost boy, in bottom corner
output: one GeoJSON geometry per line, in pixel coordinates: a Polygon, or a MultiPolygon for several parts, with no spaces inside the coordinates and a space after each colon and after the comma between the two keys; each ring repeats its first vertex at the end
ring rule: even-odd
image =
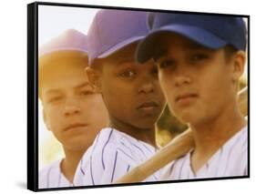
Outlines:
{"type": "Polygon", "coordinates": [[[56,160],[52,164],[43,168],[39,172],[39,189],[47,188],[61,188],[61,187],[71,187],[73,184],[62,174],[60,169],[61,160],[56,160]]]}

